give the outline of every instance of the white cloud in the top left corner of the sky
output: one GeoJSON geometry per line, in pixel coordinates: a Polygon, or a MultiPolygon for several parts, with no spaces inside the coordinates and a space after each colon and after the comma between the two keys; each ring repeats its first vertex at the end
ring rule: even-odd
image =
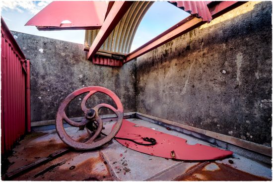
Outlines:
{"type": "Polygon", "coordinates": [[[51,1],[27,1],[27,0],[3,0],[1,8],[4,10],[16,10],[23,13],[28,11],[32,14],[38,13],[41,9],[47,6],[51,1]]]}

